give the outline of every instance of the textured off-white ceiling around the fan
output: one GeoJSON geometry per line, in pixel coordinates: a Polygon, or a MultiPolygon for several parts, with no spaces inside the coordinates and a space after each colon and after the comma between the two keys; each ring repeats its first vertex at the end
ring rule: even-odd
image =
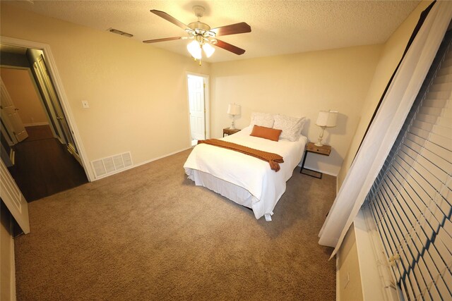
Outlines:
{"type": "MultiPolygon", "coordinates": [[[[210,27],[246,22],[252,32],[221,37],[246,49],[242,56],[216,48],[206,61],[230,61],[304,51],[381,44],[408,17],[420,1],[8,1],[42,15],[97,30],[115,28],[132,39],[185,36],[185,32],[153,13],[165,11],[182,23],[196,20],[192,7],[202,5],[201,21],[210,27]]],[[[113,35],[112,33],[108,33],[113,35]]],[[[124,39],[128,39],[124,37],[124,39]]],[[[187,40],[146,47],[160,47],[189,56],[187,40]]]]}

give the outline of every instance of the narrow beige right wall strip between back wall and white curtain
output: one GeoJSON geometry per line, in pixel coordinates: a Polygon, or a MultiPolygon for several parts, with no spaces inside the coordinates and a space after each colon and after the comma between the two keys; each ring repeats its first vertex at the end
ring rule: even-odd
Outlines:
{"type": "Polygon", "coordinates": [[[347,171],[349,170],[355,154],[358,151],[359,144],[364,137],[364,133],[367,129],[367,125],[371,120],[372,115],[376,109],[376,105],[379,103],[381,95],[388,84],[391,75],[396,70],[397,64],[400,61],[403,51],[411,37],[412,31],[415,29],[417,21],[419,20],[420,13],[424,11],[432,1],[422,1],[419,6],[413,11],[410,16],[398,27],[396,32],[391,35],[388,41],[384,44],[381,58],[379,59],[378,66],[376,66],[374,78],[371,81],[367,97],[364,99],[364,105],[362,111],[359,113],[361,120],[357,126],[355,135],[350,144],[350,149],[345,155],[344,163],[340,168],[338,175],[338,190],[342,185],[347,171]]]}

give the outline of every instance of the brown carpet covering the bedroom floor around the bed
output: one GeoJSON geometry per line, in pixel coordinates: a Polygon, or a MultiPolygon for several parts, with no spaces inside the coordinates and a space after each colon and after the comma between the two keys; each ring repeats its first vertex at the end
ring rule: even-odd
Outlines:
{"type": "Polygon", "coordinates": [[[28,204],[18,300],[335,300],[335,178],[295,169],[273,221],[187,180],[189,151],[28,204]]]}

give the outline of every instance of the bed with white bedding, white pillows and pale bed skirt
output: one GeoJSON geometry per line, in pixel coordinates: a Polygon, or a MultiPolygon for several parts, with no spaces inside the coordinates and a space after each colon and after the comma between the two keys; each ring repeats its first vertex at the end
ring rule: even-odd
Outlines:
{"type": "MultiPolygon", "coordinates": [[[[300,126],[299,123],[303,124],[304,118],[296,119],[299,122],[295,128],[295,135],[292,135],[292,141],[287,139],[272,141],[251,136],[254,125],[259,123],[263,126],[270,125],[270,121],[268,123],[259,121],[256,114],[258,113],[251,116],[251,125],[220,140],[280,154],[283,156],[284,163],[280,163],[278,172],[270,169],[267,161],[206,144],[198,144],[194,147],[184,164],[184,169],[186,175],[196,185],[213,190],[237,204],[252,209],[256,219],[265,216],[266,221],[271,221],[273,209],[285,192],[286,182],[302,159],[307,137],[300,134],[302,125],[300,126]]],[[[268,115],[269,119],[273,118],[272,127],[283,127],[277,122],[278,116],[268,115]]],[[[292,120],[293,122],[295,119],[292,120]]],[[[287,127],[287,124],[285,126],[287,127]]],[[[283,133],[281,137],[285,137],[283,133]]]]}

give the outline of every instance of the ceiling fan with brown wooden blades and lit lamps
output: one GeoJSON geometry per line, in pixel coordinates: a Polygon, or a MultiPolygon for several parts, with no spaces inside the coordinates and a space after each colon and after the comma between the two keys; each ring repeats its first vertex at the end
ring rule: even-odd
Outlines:
{"type": "Polygon", "coordinates": [[[203,6],[196,5],[193,6],[193,10],[198,20],[190,23],[189,25],[185,25],[184,23],[173,18],[172,16],[169,16],[167,13],[163,11],[151,9],[150,10],[151,13],[155,13],[155,15],[164,18],[165,20],[173,23],[174,25],[181,27],[183,30],[185,30],[185,32],[189,34],[189,36],[165,37],[162,39],[148,39],[146,41],[143,41],[143,43],[165,42],[172,41],[174,39],[194,39],[191,43],[187,45],[187,50],[189,51],[191,56],[194,57],[194,59],[198,60],[201,60],[202,57],[201,49],[204,51],[207,57],[210,57],[213,54],[215,48],[212,47],[211,45],[215,45],[216,47],[220,47],[237,55],[245,53],[244,49],[229,44],[227,42],[223,42],[220,39],[217,39],[216,37],[222,35],[236,35],[239,33],[251,32],[251,26],[244,22],[241,22],[222,27],[210,28],[209,25],[199,20],[206,11],[205,8],[203,8],[203,6]]]}

